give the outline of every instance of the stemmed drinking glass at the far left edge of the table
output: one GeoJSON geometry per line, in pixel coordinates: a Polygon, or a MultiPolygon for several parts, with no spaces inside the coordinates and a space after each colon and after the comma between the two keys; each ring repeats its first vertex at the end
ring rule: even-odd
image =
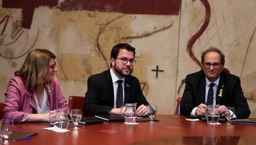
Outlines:
{"type": "Polygon", "coordinates": [[[4,144],[8,144],[8,138],[12,134],[12,128],[14,127],[14,121],[10,119],[1,120],[1,136],[4,137],[4,144]]]}

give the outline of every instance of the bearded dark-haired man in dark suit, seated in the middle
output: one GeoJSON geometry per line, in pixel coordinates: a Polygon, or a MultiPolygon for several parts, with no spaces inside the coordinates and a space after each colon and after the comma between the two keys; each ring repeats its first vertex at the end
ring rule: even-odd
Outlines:
{"type": "Polygon", "coordinates": [[[85,115],[121,114],[122,104],[137,103],[137,115],[147,116],[148,102],[143,96],[140,82],[130,75],[134,58],[135,48],[131,45],[114,45],[111,50],[111,68],[87,80],[88,90],[83,107],[85,115]]]}

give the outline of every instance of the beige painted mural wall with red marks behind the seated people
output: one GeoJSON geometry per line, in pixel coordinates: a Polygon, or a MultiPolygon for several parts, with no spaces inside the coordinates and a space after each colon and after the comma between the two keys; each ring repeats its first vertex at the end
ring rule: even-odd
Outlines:
{"type": "Polygon", "coordinates": [[[241,78],[256,117],[256,17],[254,0],[2,0],[0,101],[14,71],[32,49],[57,58],[62,92],[84,96],[87,79],[109,68],[114,44],[137,50],[133,75],[159,114],[174,114],[187,74],[201,69],[200,53],[215,46],[225,68],[241,78]],[[157,71],[156,71],[157,70],[157,71]]]}

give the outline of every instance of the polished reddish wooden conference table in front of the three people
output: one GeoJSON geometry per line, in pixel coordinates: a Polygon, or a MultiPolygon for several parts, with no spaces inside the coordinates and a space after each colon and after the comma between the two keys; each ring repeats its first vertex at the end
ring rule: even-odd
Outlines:
{"type": "Polygon", "coordinates": [[[203,121],[188,121],[188,117],[158,115],[159,122],[104,122],[85,125],[78,130],[58,133],[43,130],[40,123],[17,123],[14,130],[37,132],[28,140],[9,144],[255,144],[256,125],[209,125],[203,121]]]}

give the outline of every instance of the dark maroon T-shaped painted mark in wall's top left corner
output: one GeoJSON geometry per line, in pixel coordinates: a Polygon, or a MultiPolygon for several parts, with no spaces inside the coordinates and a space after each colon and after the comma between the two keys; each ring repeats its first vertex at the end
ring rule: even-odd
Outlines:
{"type": "Polygon", "coordinates": [[[22,9],[21,26],[30,29],[36,7],[57,6],[58,0],[2,0],[2,7],[22,9]]]}

